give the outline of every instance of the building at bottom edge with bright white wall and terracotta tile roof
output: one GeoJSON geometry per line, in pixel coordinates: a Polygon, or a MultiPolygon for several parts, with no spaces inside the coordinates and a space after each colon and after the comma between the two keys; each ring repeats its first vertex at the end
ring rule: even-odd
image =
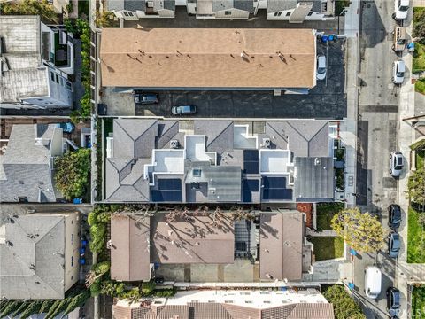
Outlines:
{"type": "Polygon", "coordinates": [[[315,289],[282,292],[200,290],[177,292],[171,298],[130,303],[118,300],[113,319],[333,319],[334,309],[315,289]]]}

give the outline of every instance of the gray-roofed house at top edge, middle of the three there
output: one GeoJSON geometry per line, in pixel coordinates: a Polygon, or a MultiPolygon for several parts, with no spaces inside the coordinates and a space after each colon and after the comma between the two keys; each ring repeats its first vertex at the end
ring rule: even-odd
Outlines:
{"type": "Polygon", "coordinates": [[[187,7],[197,19],[248,19],[254,0],[188,0],[187,7]]]}

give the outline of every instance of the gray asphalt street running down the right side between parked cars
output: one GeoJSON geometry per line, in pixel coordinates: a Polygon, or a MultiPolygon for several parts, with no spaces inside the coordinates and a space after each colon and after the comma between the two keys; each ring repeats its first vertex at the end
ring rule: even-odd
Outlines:
{"type": "MultiPolygon", "coordinates": [[[[390,152],[396,151],[398,141],[398,92],[392,84],[391,18],[393,2],[363,1],[360,18],[360,73],[358,119],[357,205],[364,212],[377,215],[388,228],[387,207],[397,203],[396,179],[390,176],[390,152]]],[[[363,253],[354,261],[355,296],[367,318],[387,318],[386,290],[394,285],[396,261],[386,250],[377,255],[363,253]],[[383,272],[382,292],[376,300],[364,293],[364,269],[377,265],[383,272]]]]}

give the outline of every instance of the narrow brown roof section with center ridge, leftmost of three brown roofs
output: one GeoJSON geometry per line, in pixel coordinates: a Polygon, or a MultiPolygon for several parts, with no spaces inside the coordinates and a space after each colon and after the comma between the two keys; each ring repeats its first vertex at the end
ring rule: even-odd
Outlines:
{"type": "Polygon", "coordinates": [[[111,278],[150,280],[150,219],[116,215],[111,219],[111,278]]]}

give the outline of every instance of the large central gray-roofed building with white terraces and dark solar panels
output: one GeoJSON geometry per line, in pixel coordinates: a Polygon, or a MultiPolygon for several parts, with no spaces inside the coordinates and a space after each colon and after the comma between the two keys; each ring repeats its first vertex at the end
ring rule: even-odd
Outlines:
{"type": "Polygon", "coordinates": [[[115,119],[104,202],[333,201],[329,121],[115,119]]]}

